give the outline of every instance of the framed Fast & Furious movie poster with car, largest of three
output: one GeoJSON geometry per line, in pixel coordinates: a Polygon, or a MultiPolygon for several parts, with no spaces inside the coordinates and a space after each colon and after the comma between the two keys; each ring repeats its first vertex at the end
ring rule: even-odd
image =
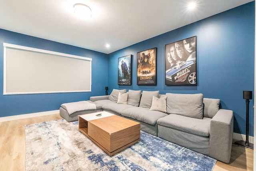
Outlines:
{"type": "Polygon", "coordinates": [[[196,36],[165,46],[166,85],[197,85],[196,36]]]}

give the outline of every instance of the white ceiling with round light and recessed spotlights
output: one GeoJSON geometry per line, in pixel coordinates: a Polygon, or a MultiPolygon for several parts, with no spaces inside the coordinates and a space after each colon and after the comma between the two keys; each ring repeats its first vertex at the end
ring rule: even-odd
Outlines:
{"type": "Polygon", "coordinates": [[[109,54],[253,0],[0,0],[0,28],[109,54]],[[92,9],[90,20],[73,6],[92,9]],[[106,48],[106,44],[110,48],[106,48]]]}

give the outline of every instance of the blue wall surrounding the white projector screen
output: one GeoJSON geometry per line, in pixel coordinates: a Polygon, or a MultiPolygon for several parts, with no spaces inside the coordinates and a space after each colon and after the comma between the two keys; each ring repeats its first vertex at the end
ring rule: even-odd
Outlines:
{"type": "MultiPolygon", "coordinates": [[[[65,54],[92,58],[92,91],[76,93],[44,93],[3,95],[0,93],[0,117],[36,113],[42,111],[58,110],[62,103],[89,100],[90,96],[104,95],[105,87],[108,86],[108,54],[86,50],[75,46],[61,44],[50,40],[44,40],[24,34],[18,34],[0,29],[0,89],[3,90],[3,66],[4,48],[3,43],[16,44],[50,50],[65,54]]],[[[61,76],[64,77],[64,76],[61,76]]],[[[18,85],[17,85],[18,86],[18,85]]]]}

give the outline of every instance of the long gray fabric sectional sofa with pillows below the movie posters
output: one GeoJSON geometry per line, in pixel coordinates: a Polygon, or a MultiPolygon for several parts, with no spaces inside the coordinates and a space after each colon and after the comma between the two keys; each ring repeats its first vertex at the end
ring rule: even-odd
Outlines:
{"type": "MultiPolygon", "coordinates": [[[[219,109],[220,99],[204,98],[202,94],[161,95],[159,91],[113,89],[110,95],[90,97],[90,103],[99,110],[101,107],[104,111],[140,122],[142,131],[224,163],[230,161],[233,111],[219,109]]],[[[67,114],[66,109],[61,108],[60,114],[67,114]]],[[[71,115],[84,112],[90,110],[71,115]]]]}

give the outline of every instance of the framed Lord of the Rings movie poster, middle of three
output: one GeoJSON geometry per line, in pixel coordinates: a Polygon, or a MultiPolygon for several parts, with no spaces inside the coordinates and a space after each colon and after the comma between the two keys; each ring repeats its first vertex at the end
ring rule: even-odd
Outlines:
{"type": "Polygon", "coordinates": [[[156,48],[137,53],[137,85],[156,85],[156,48]]]}

